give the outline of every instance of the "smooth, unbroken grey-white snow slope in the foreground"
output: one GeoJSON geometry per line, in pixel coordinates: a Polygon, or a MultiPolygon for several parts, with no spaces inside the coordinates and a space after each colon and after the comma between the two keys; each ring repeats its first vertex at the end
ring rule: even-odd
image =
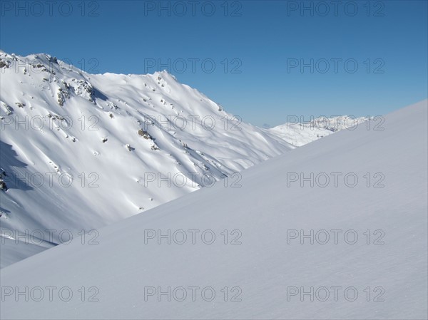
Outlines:
{"type": "Polygon", "coordinates": [[[1,318],[427,319],[427,103],[2,269],[1,318]]]}

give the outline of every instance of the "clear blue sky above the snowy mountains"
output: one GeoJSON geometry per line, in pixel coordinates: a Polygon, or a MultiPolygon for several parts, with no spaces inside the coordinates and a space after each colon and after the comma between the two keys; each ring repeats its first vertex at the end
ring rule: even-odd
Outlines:
{"type": "Polygon", "coordinates": [[[279,125],[427,98],[427,16],[424,0],[1,1],[0,47],[88,72],[167,69],[243,120],[279,125]]]}

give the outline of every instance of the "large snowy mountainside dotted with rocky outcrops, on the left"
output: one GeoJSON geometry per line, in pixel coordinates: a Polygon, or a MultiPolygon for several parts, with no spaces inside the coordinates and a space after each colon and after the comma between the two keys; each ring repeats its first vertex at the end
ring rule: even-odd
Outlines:
{"type": "Polygon", "coordinates": [[[166,72],[93,75],[3,51],[0,71],[0,267],[292,149],[166,72]],[[33,247],[14,257],[6,239],[26,230],[33,247]]]}

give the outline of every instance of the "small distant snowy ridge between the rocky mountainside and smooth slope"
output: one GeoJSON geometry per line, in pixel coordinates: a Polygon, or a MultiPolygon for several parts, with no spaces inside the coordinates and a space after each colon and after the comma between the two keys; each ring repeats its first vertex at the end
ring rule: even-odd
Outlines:
{"type": "Polygon", "coordinates": [[[340,115],[336,117],[319,117],[306,123],[298,122],[297,116],[292,117],[292,122],[283,125],[277,125],[274,128],[265,129],[267,133],[272,133],[285,140],[291,145],[301,147],[312,141],[324,138],[340,130],[355,130],[358,126],[370,128],[382,128],[384,119],[377,117],[355,118],[349,115],[340,115]],[[364,123],[369,121],[369,123],[364,123]],[[370,122],[371,121],[371,122],[370,122]]]}

